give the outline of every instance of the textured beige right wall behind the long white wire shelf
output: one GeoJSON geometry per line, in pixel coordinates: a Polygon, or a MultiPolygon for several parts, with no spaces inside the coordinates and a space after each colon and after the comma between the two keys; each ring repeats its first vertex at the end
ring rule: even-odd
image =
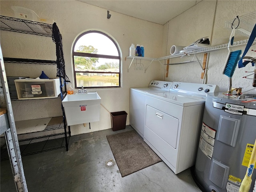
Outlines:
{"type": "MultiPolygon", "coordinates": [[[[195,40],[209,36],[211,39],[211,46],[226,44],[229,41],[231,30],[224,28],[225,21],[232,20],[236,16],[243,16],[250,12],[255,12],[256,1],[247,0],[209,0],[202,1],[196,6],[190,8],[186,12],[177,16],[165,24],[164,29],[167,31],[167,50],[166,55],[170,55],[170,48],[172,45],[188,46],[195,40]],[[216,9],[216,13],[214,10],[216,9]]],[[[234,41],[248,39],[249,37],[239,34],[235,35],[234,41]]],[[[242,50],[244,52],[245,46],[234,47],[234,50],[242,50]]],[[[256,49],[252,46],[251,49],[256,49]]],[[[250,51],[249,51],[250,52],[250,51]]],[[[255,52],[250,52],[247,56],[254,56],[255,52]]],[[[208,54],[208,72],[206,82],[208,84],[217,84],[220,87],[220,92],[228,90],[229,79],[222,74],[228,50],[218,50],[208,54]]],[[[241,55],[242,56],[242,55],[241,55]]],[[[202,61],[203,54],[198,54],[198,58],[202,61]]],[[[172,62],[180,62],[185,60],[192,60],[193,56],[174,58],[172,62]]],[[[196,60],[196,58],[194,58],[196,60]]],[[[251,90],[252,80],[242,78],[247,75],[245,71],[253,71],[254,67],[248,64],[244,68],[236,68],[233,78],[232,87],[242,87],[243,92],[250,90],[247,93],[256,93],[256,90],[251,90]]],[[[195,82],[203,83],[201,77],[202,69],[197,63],[179,64],[169,66],[169,74],[166,80],[181,81],[181,82],[195,82]]]]}

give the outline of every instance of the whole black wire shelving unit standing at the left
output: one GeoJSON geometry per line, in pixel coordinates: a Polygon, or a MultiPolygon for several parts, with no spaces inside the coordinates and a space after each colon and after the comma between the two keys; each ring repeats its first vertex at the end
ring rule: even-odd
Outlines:
{"type": "MultiPolygon", "coordinates": [[[[0,16],[0,30],[18,32],[23,34],[33,34],[52,38],[52,24],[24,20],[20,18],[12,18],[8,16],[0,16]]],[[[3,59],[4,63],[57,65],[57,62],[52,60],[38,60],[28,58],[3,59]]],[[[66,85],[64,86],[64,88],[64,91],[61,88],[61,93],[63,97],[66,95],[66,85]]],[[[21,156],[37,154],[60,148],[66,148],[66,151],[68,151],[68,143],[71,132],[70,126],[68,126],[68,131],[66,130],[66,117],[63,109],[62,112],[62,123],[47,125],[46,128],[42,131],[18,134],[21,156]]],[[[9,159],[8,146],[6,145],[6,143],[1,143],[0,160],[2,161],[7,159],[9,159]]]]}

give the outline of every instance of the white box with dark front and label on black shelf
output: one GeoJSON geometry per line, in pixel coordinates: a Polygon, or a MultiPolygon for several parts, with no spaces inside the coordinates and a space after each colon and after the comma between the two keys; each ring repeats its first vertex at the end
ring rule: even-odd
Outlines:
{"type": "Polygon", "coordinates": [[[60,79],[14,80],[18,100],[56,98],[60,94],[60,79]]]}

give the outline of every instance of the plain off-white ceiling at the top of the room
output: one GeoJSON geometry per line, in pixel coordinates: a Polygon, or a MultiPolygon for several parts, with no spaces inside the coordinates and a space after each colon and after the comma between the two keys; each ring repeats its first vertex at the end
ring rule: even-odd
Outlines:
{"type": "Polygon", "coordinates": [[[202,0],[78,0],[110,11],[164,25],[202,0]]]}

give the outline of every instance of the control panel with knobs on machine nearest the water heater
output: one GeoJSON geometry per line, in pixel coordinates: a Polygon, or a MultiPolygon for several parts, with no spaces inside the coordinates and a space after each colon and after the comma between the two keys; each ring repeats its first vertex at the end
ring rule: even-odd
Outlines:
{"type": "Polygon", "coordinates": [[[170,91],[206,96],[207,93],[219,92],[219,87],[211,84],[173,82],[170,91]]]}

